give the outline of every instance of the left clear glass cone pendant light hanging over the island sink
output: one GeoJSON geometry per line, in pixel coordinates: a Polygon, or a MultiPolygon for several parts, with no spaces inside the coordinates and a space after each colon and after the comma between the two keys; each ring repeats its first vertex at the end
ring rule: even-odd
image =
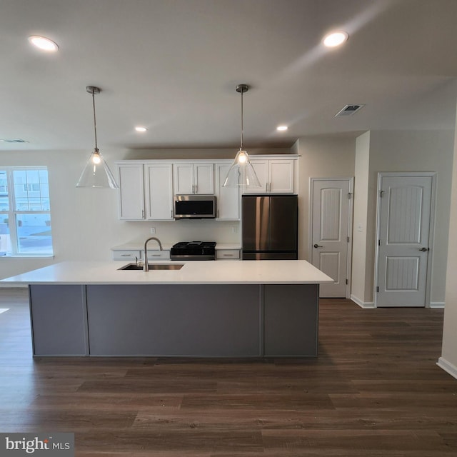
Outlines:
{"type": "Polygon", "coordinates": [[[92,106],[94,107],[94,134],[95,134],[95,148],[94,152],[89,157],[84,170],[79,176],[79,181],[76,187],[107,187],[110,189],[118,189],[119,186],[114,179],[108,164],[99,152],[97,147],[97,126],[95,117],[95,94],[100,94],[99,87],[87,86],[86,91],[92,94],[92,106]]]}

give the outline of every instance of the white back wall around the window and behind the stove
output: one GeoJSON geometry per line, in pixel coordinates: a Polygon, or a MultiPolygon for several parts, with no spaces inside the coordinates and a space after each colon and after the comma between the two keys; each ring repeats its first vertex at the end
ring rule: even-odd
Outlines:
{"type": "MultiPolygon", "coordinates": [[[[290,149],[253,149],[251,154],[290,154],[290,149]]],[[[111,171],[124,159],[233,159],[233,149],[101,150],[111,171]]],[[[0,278],[67,260],[109,260],[111,247],[129,241],[144,241],[150,227],[164,243],[205,239],[239,242],[239,226],[233,221],[128,222],[118,219],[117,191],[76,189],[90,151],[1,151],[0,166],[47,166],[51,199],[51,229],[54,258],[0,258],[0,278]]]]}

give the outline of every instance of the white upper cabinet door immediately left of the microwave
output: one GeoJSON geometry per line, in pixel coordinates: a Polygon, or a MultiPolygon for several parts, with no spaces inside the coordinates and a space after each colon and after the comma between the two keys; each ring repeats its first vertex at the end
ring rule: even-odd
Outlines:
{"type": "Polygon", "coordinates": [[[171,164],[146,165],[146,219],[173,219],[173,169],[171,164]]]}

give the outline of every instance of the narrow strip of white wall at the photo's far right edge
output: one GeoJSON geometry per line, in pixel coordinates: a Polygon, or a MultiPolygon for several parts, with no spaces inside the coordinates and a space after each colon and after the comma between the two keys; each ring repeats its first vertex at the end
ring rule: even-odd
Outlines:
{"type": "Polygon", "coordinates": [[[449,224],[446,308],[444,309],[443,348],[438,365],[457,378],[457,122],[453,150],[451,220],[449,224]]]}

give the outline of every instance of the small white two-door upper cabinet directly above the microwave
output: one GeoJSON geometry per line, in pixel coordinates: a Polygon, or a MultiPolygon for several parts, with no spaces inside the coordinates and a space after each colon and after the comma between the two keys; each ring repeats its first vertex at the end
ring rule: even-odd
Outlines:
{"type": "Polygon", "coordinates": [[[214,194],[214,164],[174,164],[174,194],[214,194]]]}

